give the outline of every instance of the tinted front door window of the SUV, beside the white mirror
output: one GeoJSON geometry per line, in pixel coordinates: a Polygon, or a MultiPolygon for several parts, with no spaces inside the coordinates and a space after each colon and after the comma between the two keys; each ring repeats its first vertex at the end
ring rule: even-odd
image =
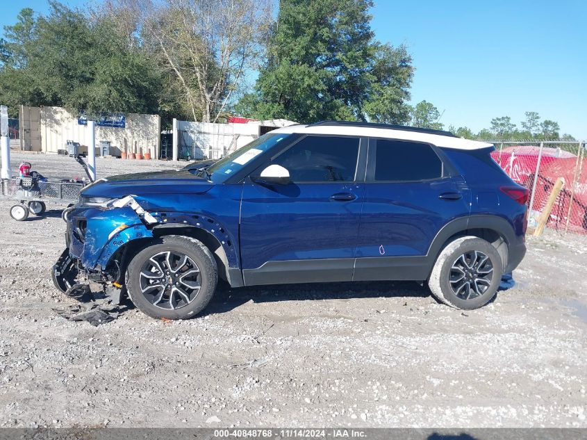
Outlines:
{"type": "Polygon", "coordinates": [[[352,181],[357,156],[358,138],[308,136],[272,163],[287,168],[294,183],[352,181]]]}

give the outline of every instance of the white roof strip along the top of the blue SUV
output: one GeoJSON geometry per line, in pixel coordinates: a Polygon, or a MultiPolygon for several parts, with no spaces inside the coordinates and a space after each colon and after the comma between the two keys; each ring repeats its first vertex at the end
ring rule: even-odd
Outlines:
{"type": "Polygon", "coordinates": [[[415,142],[427,142],[437,147],[454,149],[480,149],[493,147],[488,142],[453,138],[440,134],[420,133],[419,131],[408,131],[399,129],[382,129],[377,127],[354,127],[352,125],[290,125],[281,129],[273,130],[271,133],[307,133],[307,134],[329,134],[346,136],[370,136],[372,138],[387,138],[399,140],[413,140],[415,142]]]}

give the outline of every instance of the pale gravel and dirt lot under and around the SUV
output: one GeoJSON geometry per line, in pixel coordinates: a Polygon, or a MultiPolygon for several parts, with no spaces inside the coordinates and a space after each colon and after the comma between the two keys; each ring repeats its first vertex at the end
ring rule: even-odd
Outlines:
{"type": "MultiPolygon", "coordinates": [[[[46,175],[72,159],[13,153],[46,175]]],[[[172,167],[99,159],[99,176],[172,167]]],[[[59,211],[0,202],[0,426],[587,427],[587,238],[529,238],[516,286],[463,313],[414,283],[223,288],[206,316],[51,308],[59,211]]]]}

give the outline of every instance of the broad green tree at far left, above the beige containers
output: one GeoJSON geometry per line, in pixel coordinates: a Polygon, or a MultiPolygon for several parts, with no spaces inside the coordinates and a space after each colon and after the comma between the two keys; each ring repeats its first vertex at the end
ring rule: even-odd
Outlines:
{"type": "Polygon", "coordinates": [[[140,47],[130,47],[109,19],[51,1],[49,14],[31,10],[5,28],[8,61],[0,68],[0,101],[63,106],[101,113],[156,113],[161,81],[140,47]]]}

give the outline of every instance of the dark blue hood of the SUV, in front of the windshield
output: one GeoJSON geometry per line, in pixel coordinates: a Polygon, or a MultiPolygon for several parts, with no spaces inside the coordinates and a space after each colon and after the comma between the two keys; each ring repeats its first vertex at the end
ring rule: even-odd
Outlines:
{"type": "Polygon", "coordinates": [[[188,170],[137,172],[99,179],[85,187],[85,197],[124,197],[147,194],[201,194],[214,183],[195,176],[188,170]]]}

